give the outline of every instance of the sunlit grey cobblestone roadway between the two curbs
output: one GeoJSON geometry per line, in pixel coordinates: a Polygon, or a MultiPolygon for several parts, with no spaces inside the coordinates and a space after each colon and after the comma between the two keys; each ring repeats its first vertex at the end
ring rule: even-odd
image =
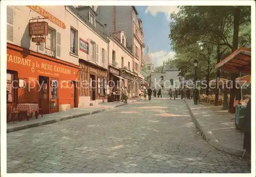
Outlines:
{"type": "Polygon", "coordinates": [[[7,172],[244,173],[209,146],[183,100],[153,98],[7,134],[7,172]]]}

